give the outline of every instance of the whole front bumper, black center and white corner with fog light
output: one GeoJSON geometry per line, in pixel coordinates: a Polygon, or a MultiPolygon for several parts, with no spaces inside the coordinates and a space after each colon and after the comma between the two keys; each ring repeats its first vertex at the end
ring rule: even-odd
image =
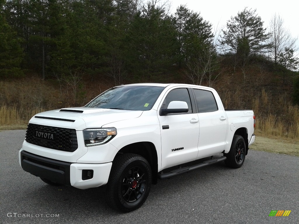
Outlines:
{"type": "Polygon", "coordinates": [[[63,162],[41,157],[23,149],[19,151],[19,162],[21,167],[30,174],[79,189],[106,184],[112,166],[112,162],[94,164],[63,162]],[[83,170],[93,171],[92,177],[86,179],[83,170]]]}

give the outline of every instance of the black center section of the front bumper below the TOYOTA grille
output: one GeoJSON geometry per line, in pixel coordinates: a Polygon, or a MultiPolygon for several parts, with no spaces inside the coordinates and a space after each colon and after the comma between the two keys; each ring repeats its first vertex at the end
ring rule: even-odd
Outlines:
{"type": "Polygon", "coordinates": [[[71,162],[49,159],[26,151],[21,151],[21,166],[23,170],[36,177],[48,179],[55,183],[70,185],[71,162]]]}

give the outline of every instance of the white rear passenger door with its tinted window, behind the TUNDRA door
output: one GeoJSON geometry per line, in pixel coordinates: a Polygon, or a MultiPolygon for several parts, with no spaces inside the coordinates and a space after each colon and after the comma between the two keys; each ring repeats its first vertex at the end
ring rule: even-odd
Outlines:
{"type": "Polygon", "coordinates": [[[197,159],[221,153],[225,148],[227,118],[212,91],[193,88],[199,119],[197,159]]]}

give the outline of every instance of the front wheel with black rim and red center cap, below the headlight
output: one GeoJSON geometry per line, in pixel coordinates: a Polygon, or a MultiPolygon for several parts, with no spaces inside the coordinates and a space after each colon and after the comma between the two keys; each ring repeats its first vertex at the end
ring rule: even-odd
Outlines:
{"type": "Polygon", "coordinates": [[[152,171],[144,157],[121,154],[112,163],[106,185],[106,200],[114,209],[133,211],[147,199],[151,182],[152,171]]]}

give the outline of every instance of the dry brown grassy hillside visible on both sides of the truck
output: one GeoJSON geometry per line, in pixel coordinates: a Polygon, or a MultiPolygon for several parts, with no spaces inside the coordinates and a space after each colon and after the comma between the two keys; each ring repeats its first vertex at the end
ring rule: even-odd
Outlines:
{"type": "MultiPolygon", "coordinates": [[[[252,109],[257,118],[256,131],[260,135],[299,139],[299,107],[292,105],[289,95],[275,95],[265,89],[248,87],[248,82],[242,84],[236,76],[228,77],[225,82],[222,87],[216,88],[224,107],[252,109]]],[[[75,105],[66,94],[67,90],[62,90],[65,94],[61,95],[60,86],[55,80],[27,78],[0,81],[0,129],[7,129],[9,125],[27,125],[29,119],[41,111],[82,106],[107,88],[106,85],[93,82],[89,85],[86,100],[75,105]]]]}

